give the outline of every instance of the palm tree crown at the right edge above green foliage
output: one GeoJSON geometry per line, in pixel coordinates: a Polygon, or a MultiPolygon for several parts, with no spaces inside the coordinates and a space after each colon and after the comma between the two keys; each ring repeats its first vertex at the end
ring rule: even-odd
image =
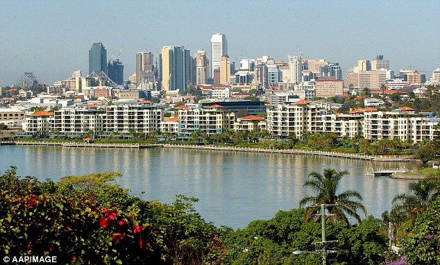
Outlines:
{"type": "Polygon", "coordinates": [[[408,187],[412,194],[396,195],[393,199],[392,211],[418,216],[428,210],[432,200],[439,195],[439,185],[434,177],[411,182],[408,187]]]}

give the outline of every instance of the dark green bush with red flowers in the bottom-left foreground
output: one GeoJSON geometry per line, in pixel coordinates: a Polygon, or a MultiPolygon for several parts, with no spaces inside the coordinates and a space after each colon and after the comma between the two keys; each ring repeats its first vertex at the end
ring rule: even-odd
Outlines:
{"type": "Polygon", "coordinates": [[[40,194],[30,183],[15,182],[14,192],[0,185],[1,255],[53,255],[61,264],[164,262],[160,231],[134,212],[101,209],[92,196],[40,194]]]}

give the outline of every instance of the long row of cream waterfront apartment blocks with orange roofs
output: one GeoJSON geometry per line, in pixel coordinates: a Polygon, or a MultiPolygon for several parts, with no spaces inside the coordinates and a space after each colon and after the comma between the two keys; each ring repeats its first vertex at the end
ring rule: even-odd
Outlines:
{"type": "Polygon", "coordinates": [[[419,114],[404,107],[391,112],[380,112],[367,107],[352,110],[350,114],[338,114],[323,105],[301,100],[287,102],[267,110],[267,118],[247,116],[237,119],[237,112],[222,105],[210,103],[203,108],[179,106],[177,116],[164,121],[163,110],[146,104],[111,105],[105,109],[62,108],[55,112],[35,112],[26,117],[23,129],[27,134],[59,132],[65,135],[81,135],[94,132],[144,134],[161,130],[170,135],[189,137],[194,132],[215,135],[226,130],[266,130],[275,137],[294,135],[303,137],[304,132],[335,132],[338,137],[363,135],[366,139],[394,139],[405,142],[423,142],[437,137],[439,118],[419,114]]]}

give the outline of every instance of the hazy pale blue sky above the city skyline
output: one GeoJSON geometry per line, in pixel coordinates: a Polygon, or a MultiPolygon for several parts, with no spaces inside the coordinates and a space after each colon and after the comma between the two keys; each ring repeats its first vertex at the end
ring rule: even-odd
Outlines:
{"type": "Polygon", "coordinates": [[[46,85],[88,74],[88,51],[103,42],[119,53],[124,79],[135,54],[162,46],[210,51],[214,33],[228,39],[230,58],[287,60],[298,55],[339,62],[384,55],[391,69],[432,76],[440,67],[440,1],[19,1],[2,0],[0,86],[31,71],[46,85]]]}

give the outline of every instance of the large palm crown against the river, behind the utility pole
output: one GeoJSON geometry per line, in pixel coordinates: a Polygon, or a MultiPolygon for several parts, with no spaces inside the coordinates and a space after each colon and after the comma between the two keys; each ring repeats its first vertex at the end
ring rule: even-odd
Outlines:
{"type": "MultiPolygon", "coordinates": [[[[357,201],[362,201],[362,196],[359,192],[348,190],[336,195],[339,182],[345,175],[348,175],[348,171],[338,172],[335,169],[324,169],[323,175],[318,172],[310,173],[304,183],[304,187],[310,187],[316,192],[316,195],[305,196],[305,198],[299,202],[300,207],[307,205],[307,203],[312,203],[313,205],[337,204],[334,207],[328,207],[329,214],[335,214],[336,221],[348,223],[347,216],[351,216],[360,223],[361,219],[359,214],[357,214],[357,210],[362,210],[366,216],[366,208],[362,203],[357,201]],[[353,200],[353,198],[355,200],[353,200]]],[[[310,219],[314,210],[314,208],[307,208],[305,210],[305,219],[310,219]]]]}

